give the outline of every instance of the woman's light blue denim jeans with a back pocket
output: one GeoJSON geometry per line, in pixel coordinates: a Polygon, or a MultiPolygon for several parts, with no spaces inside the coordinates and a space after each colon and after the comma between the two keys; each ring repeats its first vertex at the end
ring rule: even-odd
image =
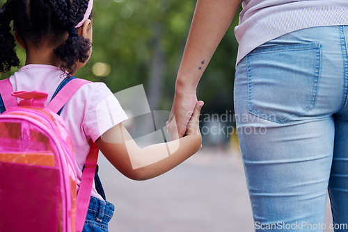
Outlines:
{"type": "Polygon", "coordinates": [[[238,65],[235,113],[255,231],[348,231],[348,26],[271,40],[238,65]],[[340,225],[342,224],[342,225],[340,225]]]}

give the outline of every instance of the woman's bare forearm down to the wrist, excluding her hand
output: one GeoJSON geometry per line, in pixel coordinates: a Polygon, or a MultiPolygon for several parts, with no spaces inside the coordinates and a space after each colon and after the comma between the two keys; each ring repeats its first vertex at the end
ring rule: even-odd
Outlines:
{"type": "Polygon", "coordinates": [[[180,63],[176,92],[195,92],[241,0],[198,0],[180,63]]]}

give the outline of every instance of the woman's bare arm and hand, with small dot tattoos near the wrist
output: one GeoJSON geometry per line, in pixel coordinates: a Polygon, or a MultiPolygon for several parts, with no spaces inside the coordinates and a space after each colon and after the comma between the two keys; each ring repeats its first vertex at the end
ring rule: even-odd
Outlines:
{"type": "Polygon", "coordinates": [[[197,101],[196,88],[242,0],[198,0],[177,73],[168,132],[181,138],[197,101]],[[175,117],[175,120],[173,120],[175,117]],[[176,121],[176,124],[175,124],[176,121]],[[177,133],[178,132],[178,133],[177,133]]]}

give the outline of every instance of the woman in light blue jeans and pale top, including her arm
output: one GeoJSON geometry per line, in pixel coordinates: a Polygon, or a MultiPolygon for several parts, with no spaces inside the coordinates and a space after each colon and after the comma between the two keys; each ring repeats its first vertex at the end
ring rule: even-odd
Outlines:
{"type": "Polygon", "coordinates": [[[255,231],[329,229],[328,189],[335,231],[347,231],[348,1],[198,0],[168,130],[176,121],[184,135],[241,3],[235,113],[255,231]]]}

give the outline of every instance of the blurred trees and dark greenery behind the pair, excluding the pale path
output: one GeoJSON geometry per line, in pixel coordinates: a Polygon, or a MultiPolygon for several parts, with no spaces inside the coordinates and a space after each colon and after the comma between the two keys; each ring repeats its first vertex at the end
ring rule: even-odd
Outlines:
{"type": "MultiPolygon", "coordinates": [[[[1,6],[4,2],[0,0],[1,6]]],[[[114,93],[142,84],[151,110],[170,111],[195,5],[193,0],[95,0],[93,54],[75,76],[102,81],[114,93]]],[[[232,86],[237,41],[233,28],[236,25],[237,18],[203,74],[197,92],[198,99],[205,101],[200,126],[204,126],[203,134],[209,139],[204,143],[219,148],[229,147],[230,134],[234,133],[232,86]],[[221,114],[226,119],[218,133],[211,128],[216,126],[221,114]]],[[[24,65],[23,49],[17,47],[17,54],[24,65]]],[[[15,71],[13,68],[1,78],[15,71]]]]}

